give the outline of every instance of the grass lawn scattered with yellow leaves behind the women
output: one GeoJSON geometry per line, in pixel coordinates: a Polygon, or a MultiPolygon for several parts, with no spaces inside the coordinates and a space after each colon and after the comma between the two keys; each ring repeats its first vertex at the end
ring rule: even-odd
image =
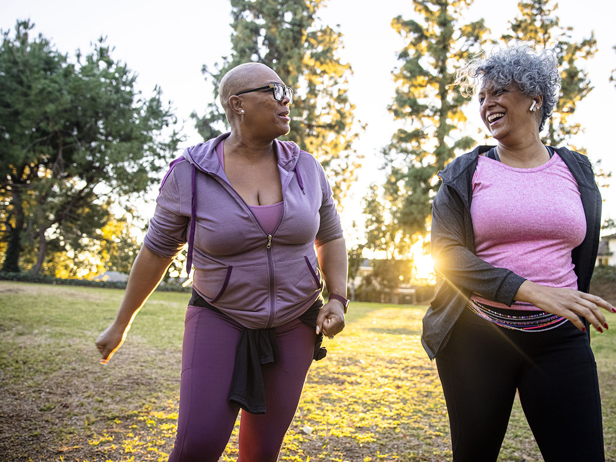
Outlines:
{"type": "MultiPolygon", "coordinates": [[[[123,291],[0,281],[0,461],[166,461],[188,294],[155,293],[99,365],[123,291]]],[[[424,306],[355,302],[314,362],[281,461],[447,461],[447,410],[419,335],[424,306]]],[[[606,460],[616,461],[616,318],[593,333],[606,460]]],[[[237,457],[237,430],[221,460],[237,457]]],[[[519,403],[500,461],[541,457],[519,403]]]]}

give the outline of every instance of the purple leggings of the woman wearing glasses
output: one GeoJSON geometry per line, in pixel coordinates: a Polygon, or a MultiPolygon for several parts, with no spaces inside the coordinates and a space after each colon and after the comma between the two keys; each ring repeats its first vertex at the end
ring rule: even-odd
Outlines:
{"type": "MultiPolygon", "coordinates": [[[[216,462],[240,408],[229,402],[242,326],[208,308],[188,306],[176,444],[169,462],[216,462]]],[[[275,462],[314,357],[314,327],[299,319],[275,328],[280,360],[261,367],[265,414],[241,413],[238,462],[275,462]]]]}

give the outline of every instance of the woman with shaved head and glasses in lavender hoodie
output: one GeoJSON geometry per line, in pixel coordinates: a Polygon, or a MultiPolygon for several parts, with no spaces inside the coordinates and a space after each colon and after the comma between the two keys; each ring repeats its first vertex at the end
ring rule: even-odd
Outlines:
{"type": "Polygon", "coordinates": [[[269,67],[245,63],[222,78],[219,94],[231,131],[172,162],[97,346],[107,362],[188,243],[193,291],[169,461],[217,461],[240,408],[238,461],[275,461],[310,363],[324,356],[323,335],[344,327],[347,253],[323,168],[277,140],[290,130],[291,88],[269,67]]]}

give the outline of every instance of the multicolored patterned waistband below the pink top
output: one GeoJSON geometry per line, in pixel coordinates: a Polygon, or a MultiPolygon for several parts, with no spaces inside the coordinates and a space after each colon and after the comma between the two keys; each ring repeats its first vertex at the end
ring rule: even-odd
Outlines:
{"type": "Polygon", "coordinates": [[[522,311],[522,313],[527,314],[524,316],[519,316],[514,314],[505,314],[498,308],[484,305],[475,300],[469,300],[466,306],[471,309],[472,312],[485,320],[495,323],[501,327],[513,330],[542,332],[554,329],[567,322],[567,318],[556,314],[547,313],[545,311],[522,311]]]}

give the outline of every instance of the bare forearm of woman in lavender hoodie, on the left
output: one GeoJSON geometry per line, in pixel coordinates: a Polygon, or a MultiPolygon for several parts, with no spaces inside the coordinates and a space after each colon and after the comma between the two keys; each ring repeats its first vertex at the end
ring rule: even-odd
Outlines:
{"type": "Polygon", "coordinates": [[[172,258],[158,256],[142,246],[131,267],[126,293],[114,322],[116,325],[126,327],[131,324],[139,309],[160,284],[172,261],[172,258]]]}

